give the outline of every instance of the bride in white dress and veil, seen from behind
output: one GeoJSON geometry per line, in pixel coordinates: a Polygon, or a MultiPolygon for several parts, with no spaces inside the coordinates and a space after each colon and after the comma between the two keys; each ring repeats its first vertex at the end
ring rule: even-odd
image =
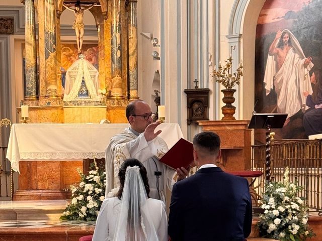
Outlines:
{"type": "Polygon", "coordinates": [[[117,197],[103,201],[93,241],[166,241],[167,213],[163,201],[149,198],[146,169],[127,159],[119,170],[117,197]]]}

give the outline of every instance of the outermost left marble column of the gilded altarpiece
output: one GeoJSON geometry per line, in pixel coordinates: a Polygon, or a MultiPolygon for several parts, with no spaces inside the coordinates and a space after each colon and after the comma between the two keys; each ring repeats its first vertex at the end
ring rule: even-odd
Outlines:
{"type": "Polygon", "coordinates": [[[34,100],[38,97],[37,84],[37,45],[34,0],[25,0],[25,99],[34,100]]]}

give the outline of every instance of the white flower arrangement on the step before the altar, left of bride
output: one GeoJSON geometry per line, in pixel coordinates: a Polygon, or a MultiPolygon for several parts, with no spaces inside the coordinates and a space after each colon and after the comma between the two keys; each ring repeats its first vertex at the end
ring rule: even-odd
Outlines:
{"type": "Polygon", "coordinates": [[[96,221],[105,199],[106,173],[94,161],[94,170],[85,176],[77,169],[82,180],[78,187],[71,186],[71,202],[65,208],[61,220],[96,221]]]}

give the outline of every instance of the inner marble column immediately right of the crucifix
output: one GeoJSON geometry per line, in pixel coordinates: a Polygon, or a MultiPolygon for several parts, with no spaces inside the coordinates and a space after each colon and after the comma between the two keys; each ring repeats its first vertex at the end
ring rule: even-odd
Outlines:
{"type": "Polygon", "coordinates": [[[111,18],[111,97],[123,98],[121,0],[113,0],[111,18]]]}

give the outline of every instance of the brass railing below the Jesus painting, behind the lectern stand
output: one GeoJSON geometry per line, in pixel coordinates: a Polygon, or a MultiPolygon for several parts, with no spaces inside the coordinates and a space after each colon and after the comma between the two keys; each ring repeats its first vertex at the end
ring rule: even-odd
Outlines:
{"type": "MultiPolygon", "coordinates": [[[[252,146],[252,170],[264,172],[258,179],[261,183],[257,189],[259,196],[265,191],[265,156],[265,145],[252,146]]],[[[300,195],[306,197],[308,207],[322,215],[322,141],[281,140],[271,143],[271,180],[282,181],[286,167],[290,170],[290,181],[304,187],[300,195]]]]}

